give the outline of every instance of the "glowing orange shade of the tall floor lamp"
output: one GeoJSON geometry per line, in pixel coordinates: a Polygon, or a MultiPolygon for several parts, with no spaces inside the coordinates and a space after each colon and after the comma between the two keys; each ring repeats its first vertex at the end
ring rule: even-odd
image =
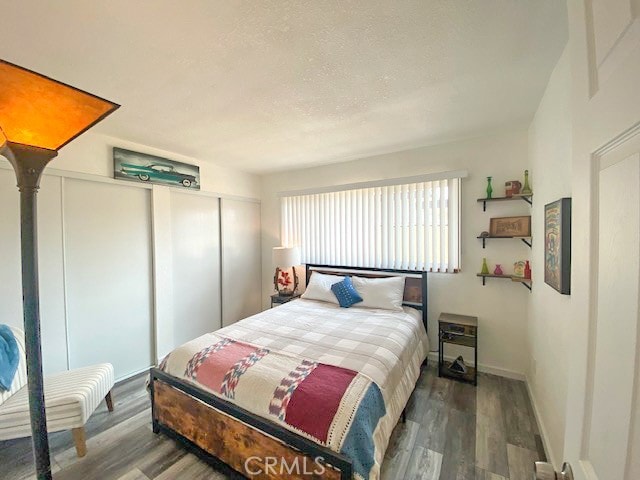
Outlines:
{"type": "Polygon", "coordinates": [[[118,107],[0,60],[0,143],[58,150],[118,107]]]}

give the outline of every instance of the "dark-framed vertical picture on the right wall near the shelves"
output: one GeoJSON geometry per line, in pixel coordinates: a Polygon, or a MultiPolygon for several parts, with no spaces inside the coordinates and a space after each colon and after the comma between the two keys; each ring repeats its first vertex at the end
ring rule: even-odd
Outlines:
{"type": "Polygon", "coordinates": [[[544,281],[571,294],[571,199],[544,206],[544,281]]]}

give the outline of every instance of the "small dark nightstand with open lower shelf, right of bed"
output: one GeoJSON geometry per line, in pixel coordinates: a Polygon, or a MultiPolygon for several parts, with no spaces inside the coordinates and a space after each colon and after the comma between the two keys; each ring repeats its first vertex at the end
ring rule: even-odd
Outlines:
{"type": "Polygon", "coordinates": [[[438,318],[438,376],[478,384],[478,317],[441,313],[438,318]],[[451,362],[444,359],[444,345],[460,345],[473,349],[473,367],[467,365],[466,373],[449,369],[451,362]]]}

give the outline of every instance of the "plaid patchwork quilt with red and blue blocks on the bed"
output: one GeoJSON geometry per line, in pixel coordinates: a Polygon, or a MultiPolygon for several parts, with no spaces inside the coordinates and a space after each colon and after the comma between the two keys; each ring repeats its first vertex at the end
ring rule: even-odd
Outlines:
{"type": "Polygon", "coordinates": [[[188,342],[160,368],[344,454],[356,478],[374,480],[427,352],[416,313],[297,300],[188,342]]]}

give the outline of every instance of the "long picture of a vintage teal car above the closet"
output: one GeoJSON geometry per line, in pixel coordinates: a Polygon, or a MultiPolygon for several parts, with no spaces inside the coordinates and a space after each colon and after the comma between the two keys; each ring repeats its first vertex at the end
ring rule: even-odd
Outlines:
{"type": "Polygon", "coordinates": [[[198,166],[124,148],[113,149],[113,177],[132,182],[200,190],[198,166]]]}

